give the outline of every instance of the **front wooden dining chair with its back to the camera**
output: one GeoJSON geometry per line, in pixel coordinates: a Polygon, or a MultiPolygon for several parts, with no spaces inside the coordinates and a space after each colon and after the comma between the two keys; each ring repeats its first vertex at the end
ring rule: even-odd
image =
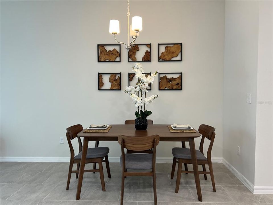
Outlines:
{"type": "Polygon", "coordinates": [[[154,204],[157,205],[156,199],[156,145],[159,143],[159,135],[144,136],[144,137],[130,137],[125,135],[118,136],[118,142],[121,145],[121,156],[119,163],[122,166],[121,177],[121,195],[120,204],[123,205],[124,195],[124,181],[125,177],[129,176],[150,176],[153,177],[154,188],[154,204]],[[124,153],[125,149],[134,151],[141,151],[145,149],[153,149],[153,153],[136,154],[124,153]],[[145,172],[128,172],[127,169],[140,170],[152,169],[152,171],[145,172]]]}

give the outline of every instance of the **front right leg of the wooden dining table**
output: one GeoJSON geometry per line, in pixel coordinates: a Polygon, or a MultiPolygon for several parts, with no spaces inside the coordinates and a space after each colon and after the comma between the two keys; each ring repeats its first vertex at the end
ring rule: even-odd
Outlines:
{"type": "Polygon", "coordinates": [[[190,144],[190,149],[191,149],[191,159],[193,161],[193,172],[194,172],[197,196],[198,196],[198,200],[202,201],[202,193],[201,193],[201,187],[200,187],[200,179],[199,179],[199,173],[198,173],[198,165],[197,165],[197,158],[196,158],[196,152],[195,152],[194,138],[189,138],[189,144],[190,144]]]}

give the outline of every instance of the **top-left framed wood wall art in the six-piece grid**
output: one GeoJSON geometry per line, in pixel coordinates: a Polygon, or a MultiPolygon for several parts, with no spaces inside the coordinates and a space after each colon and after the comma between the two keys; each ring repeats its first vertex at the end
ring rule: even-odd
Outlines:
{"type": "Polygon", "coordinates": [[[98,44],[98,62],[120,62],[120,44],[98,44]]]}

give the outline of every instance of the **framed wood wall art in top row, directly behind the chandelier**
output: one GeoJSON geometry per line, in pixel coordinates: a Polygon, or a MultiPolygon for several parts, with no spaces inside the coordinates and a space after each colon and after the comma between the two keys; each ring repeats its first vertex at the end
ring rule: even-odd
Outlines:
{"type": "Polygon", "coordinates": [[[151,62],[151,44],[134,44],[128,52],[128,62],[151,62]]]}

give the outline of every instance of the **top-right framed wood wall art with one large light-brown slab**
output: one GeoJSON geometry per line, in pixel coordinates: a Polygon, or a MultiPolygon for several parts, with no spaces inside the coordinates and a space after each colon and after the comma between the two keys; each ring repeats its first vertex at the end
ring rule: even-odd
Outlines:
{"type": "Polygon", "coordinates": [[[158,61],[182,61],[182,43],[158,44],[158,61]]]}

